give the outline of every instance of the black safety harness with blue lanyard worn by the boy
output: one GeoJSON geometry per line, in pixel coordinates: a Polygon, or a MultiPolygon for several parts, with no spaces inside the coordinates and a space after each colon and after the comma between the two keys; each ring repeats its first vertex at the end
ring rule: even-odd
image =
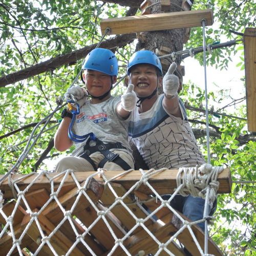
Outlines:
{"type": "Polygon", "coordinates": [[[69,109],[70,109],[71,113],[73,114],[72,121],[69,125],[69,131],[68,131],[69,138],[71,140],[75,141],[75,142],[83,142],[89,137],[86,144],[83,146],[83,153],[79,157],[82,157],[83,159],[86,159],[93,166],[93,168],[96,172],[97,172],[97,167],[96,167],[95,163],[93,162],[93,160],[90,158],[90,155],[92,155],[93,153],[96,153],[96,152],[100,152],[100,154],[102,154],[104,156],[104,158],[99,162],[98,168],[103,168],[104,164],[106,162],[110,161],[110,162],[118,164],[124,170],[131,169],[131,166],[129,164],[127,164],[119,156],[119,154],[114,154],[110,151],[110,150],[113,150],[113,149],[127,150],[127,148],[124,147],[120,142],[103,143],[101,140],[99,140],[98,138],[95,137],[94,133],[89,133],[89,134],[86,134],[86,135],[83,135],[83,136],[78,136],[78,135],[75,135],[72,132],[71,129],[72,129],[74,120],[76,118],[76,115],[80,114],[80,110],[79,110],[79,104],[78,103],[77,103],[77,111],[75,111],[73,109],[71,103],[74,103],[74,101],[68,101],[69,109]],[[90,146],[89,145],[90,141],[92,141],[92,140],[96,141],[95,146],[90,146]]]}

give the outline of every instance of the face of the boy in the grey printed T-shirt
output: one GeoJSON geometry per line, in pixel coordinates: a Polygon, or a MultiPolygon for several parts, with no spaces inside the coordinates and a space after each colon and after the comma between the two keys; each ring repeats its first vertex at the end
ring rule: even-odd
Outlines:
{"type": "MultiPolygon", "coordinates": [[[[111,88],[111,76],[96,70],[84,70],[83,80],[89,93],[99,97],[111,88]]],[[[116,76],[113,76],[113,83],[116,82],[116,76]]]]}

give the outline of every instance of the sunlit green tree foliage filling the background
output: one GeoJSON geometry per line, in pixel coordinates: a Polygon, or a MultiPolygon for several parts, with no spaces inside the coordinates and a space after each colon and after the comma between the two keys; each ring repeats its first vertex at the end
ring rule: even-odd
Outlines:
{"type": "MultiPolygon", "coordinates": [[[[202,0],[194,1],[193,10],[212,8],[217,26],[206,28],[206,44],[216,41],[241,39],[229,30],[244,32],[246,27],[255,27],[255,1],[242,0],[202,0]]],[[[36,63],[48,60],[71,51],[96,44],[101,18],[124,16],[128,8],[107,2],[94,0],[50,0],[50,1],[20,1],[6,0],[0,3],[0,76],[11,74],[29,68],[36,63]]],[[[190,39],[184,48],[190,49],[202,46],[202,29],[194,28],[190,39]]],[[[135,45],[117,48],[116,56],[119,62],[119,77],[125,74],[125,65],[133,54],[135,45]]],[[[216,49],[211,55],[207,53],[207,65],[219,69],[228,69],[231,52],[240,54],[241,61],[237,67],[244,69],[243,46],[234,45],[224,49],[216,49]]],[[[195,55],[203,63],[203,54],[195,55]]],[[[56,108],[55,96],[62,96],[80,71],[82,60],[74,66],[62,66],[48,73],[22,80],[15,84],[0,88],[0,136],[39,122],[56,108]]],[[[241,78],[244,81],[244,78],[241,78]]],[[[81,84],[81,83],[80,83],[81,84]]],[[[114,89],[113,95],[124,91],[121,82],[114,89]]],[[[81,84],[82,85],[82,84],[81,84]]],[[[199,106],[204,102],[204,91],[194,83],[184,84],[180,94],[182,100],[188,99],[189,105],[199,106]]],[[[210,104],[218,105],[232,101],[229,92],[220,90],[218,93],[208,93],[210,104]]],[[[244,102],[235,105],[234,110],[225,108],[222,113],[246,118],[244,102]]],[[[189,111],[188,118],[200,122],[191,122],[193,128],[205,129],[205,115],[189,111]]],[[[60,119],[60,112],[52,120],[60,119]]],[[[242,135],[249,135],[245,130],[246,122],[221,116],[209,116],[209,123],[217,127],[219,137],[210,138],[211,163],[230,168],[234,181],[256,181],[256,142],[239,143],[242,135]]],[[[55,123],[54,123],[55,124],[55,123]]],[[[53,124],[48,124],[47,129],[53,124]]],[[[40,126],[42,127],[42,125],[40,126]]],[[[22,173],[30,173],[35,163],[45,151],[56,129],[41,135],[32,148],[22,167],[22,173]]],[[[0,173],[7,172],[10,163],[14,164],[27,145],[26,140],[31,135],[33,127],[27,127],[11,136],[1,139],[0,143],[0,173]],[[23,142],[22,144],[19,144],[23,142]]],[[[38,134],[38,130],[35,134],[38,134]]],[[[204,156],[206,138],[198,140],[204,156]]],[[[54,148],[48,158],[55,159],[59,153],[54,148]]],[[[39,169],[47,169],[42,163],[39,169]]],[[[210,235],[227,255],[255,255],[256,230],[256,193],[255,183],[233,183],[232,192],[220,195],[217,221],[211,227],[210,235]]]]}

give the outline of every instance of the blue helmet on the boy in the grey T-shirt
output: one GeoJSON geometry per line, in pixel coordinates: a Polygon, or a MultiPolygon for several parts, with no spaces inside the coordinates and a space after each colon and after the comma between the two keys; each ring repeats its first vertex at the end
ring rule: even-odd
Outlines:
{"type": "Polygon", "coordinates": [[[115,54],[108,49],[92,50],[82,64],[83,69],[91,69],[114,76],[118,74],[118,63],[115,54]]]}

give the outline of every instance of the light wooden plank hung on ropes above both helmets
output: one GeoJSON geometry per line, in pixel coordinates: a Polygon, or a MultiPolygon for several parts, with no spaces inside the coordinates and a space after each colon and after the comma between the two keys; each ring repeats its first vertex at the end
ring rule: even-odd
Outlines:
{"type": "Polygon", "coordinates": [[[118,35],[144,31],[201,27],[203,18],[207,20],[207,26],[214,24],[212,9],[101,19],[100,29],[102,35],[105,33],[106,28],[111,29],[110,34],[118,35]]]}

